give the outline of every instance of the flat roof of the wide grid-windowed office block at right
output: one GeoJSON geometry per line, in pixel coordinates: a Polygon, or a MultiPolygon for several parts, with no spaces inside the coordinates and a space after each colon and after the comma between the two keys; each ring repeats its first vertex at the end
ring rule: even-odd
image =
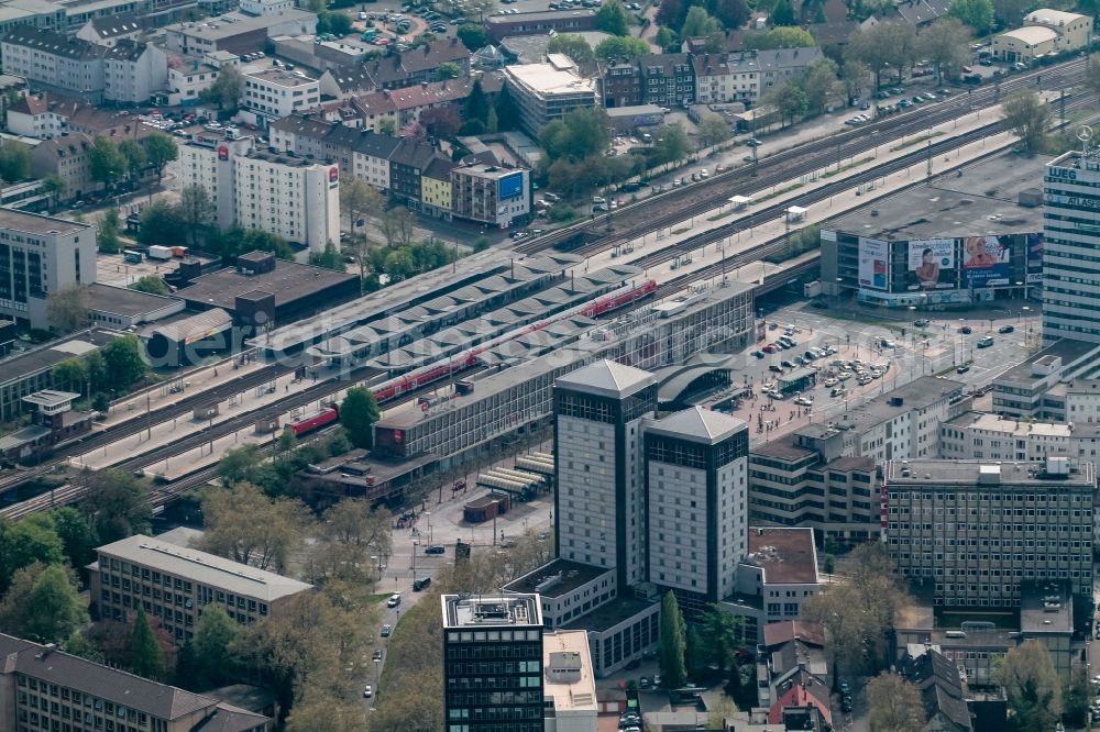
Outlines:
{"type": "Polygon", "coordinates": [[[1050,475],[1045,472],[1042,463],[1009,462],[1009,461],[941,461],[910,459],[889,461],[883,476],[890,486],[930,486],[942,487],[967,486],[1067,486],[1074,488],[1096,488],[1096,474],[1092,463],[1087,461],[1069,461],[1069,458],[1052,458],[1065,461],[1069,473],[1050,475]],[[902,475],[908,472],[909,475],[902,475]]]}

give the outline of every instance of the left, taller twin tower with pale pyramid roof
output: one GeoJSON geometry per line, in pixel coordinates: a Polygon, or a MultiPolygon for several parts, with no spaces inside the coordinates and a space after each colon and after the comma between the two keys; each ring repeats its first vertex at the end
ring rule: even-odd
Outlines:
{"type": "Polygon", "coordinates": [[[641,421],[653,375],[601,361],[554,385],[554,530],[564,559],[615,568],[618,591],[646,581],[641,421]]]}

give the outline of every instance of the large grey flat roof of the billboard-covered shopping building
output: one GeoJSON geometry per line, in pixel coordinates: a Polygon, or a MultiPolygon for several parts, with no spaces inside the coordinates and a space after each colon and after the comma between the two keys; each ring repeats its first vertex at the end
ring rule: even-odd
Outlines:
{"type": "Polygon", "coordinates": [[[1040,232],[1043,207],[1023,207],[1018,200],[1021,191],[1042,190],[1047,160],[996,155],[965,166],[961,176],[941,175],[881,198],[827,228],[884,241],[1040,232]]]}

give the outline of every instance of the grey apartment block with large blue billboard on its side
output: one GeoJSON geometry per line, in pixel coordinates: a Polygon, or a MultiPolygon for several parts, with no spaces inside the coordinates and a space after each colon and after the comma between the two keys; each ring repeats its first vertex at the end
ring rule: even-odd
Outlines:
{"type": "Polygon", "coordinates": [[[483,163],[451,169],[451,210],[497,229],[525,223],[531,211],[530,171],[483,163]]]}

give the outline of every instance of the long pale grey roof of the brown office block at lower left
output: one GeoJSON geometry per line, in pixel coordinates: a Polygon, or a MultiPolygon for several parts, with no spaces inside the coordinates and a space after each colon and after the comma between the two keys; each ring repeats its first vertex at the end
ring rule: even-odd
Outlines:
{"type": "Polygon", "coordinates": [[[132,562],[195,583],[219,587],[265,602],[297,595],[312,585],[232,562],[216,554],[185,548],[145,534],[107,544],[96,550],[100,555],[132,562]]]}

